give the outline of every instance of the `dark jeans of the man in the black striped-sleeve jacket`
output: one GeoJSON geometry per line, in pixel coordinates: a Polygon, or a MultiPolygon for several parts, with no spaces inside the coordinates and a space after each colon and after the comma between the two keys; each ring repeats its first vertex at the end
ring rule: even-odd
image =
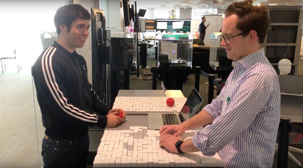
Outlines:
{"type": "Polygon", "coordinates": [[[88,134],[75,139],[54,139],[43,137],[43,167],[83,167],[87,165],[89,147],[88,134]]]}

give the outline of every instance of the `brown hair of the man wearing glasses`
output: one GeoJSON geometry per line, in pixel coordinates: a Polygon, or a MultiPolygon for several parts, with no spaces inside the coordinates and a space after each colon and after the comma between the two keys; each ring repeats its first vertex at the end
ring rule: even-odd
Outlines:
{"type": "Polygon", "coordinates": [[[224,14],[225,17],[236,14],[238,16],[237,29],[241,30],[244,36],[251,30],[255,30],[259,43],[263,43],[270,26],[268,8],[252,3],[253,0],[233,2],[226,8],[224,14]]]}

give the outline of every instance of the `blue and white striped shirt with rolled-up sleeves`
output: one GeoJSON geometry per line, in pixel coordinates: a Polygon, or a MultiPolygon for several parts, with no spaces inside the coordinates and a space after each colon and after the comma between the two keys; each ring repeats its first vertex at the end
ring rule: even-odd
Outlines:
{"type": "Polygon", "coordinates": [[[218,152],[224,167],[271,167],[280,118],[278,75],[263,49],[234,65],[220,95],[203,108],[213,123],[193,136],[193,144],[207,156],[218,152]]]}

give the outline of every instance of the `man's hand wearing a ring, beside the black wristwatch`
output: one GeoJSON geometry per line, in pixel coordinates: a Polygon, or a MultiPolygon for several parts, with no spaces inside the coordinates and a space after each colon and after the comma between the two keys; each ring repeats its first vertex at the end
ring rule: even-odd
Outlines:
{"type": "Polygon", "coordinates": [[[175,137],[173,135],[165,134],[161,136],[159,144],[160,147],[165,147],[168,151],[179,153],[175,146],[175,143],[179,140],[183,141],[183,139],[180,136],[175,137]]]}

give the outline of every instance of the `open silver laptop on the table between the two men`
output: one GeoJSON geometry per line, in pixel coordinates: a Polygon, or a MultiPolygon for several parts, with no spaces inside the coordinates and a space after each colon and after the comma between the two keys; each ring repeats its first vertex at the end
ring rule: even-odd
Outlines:
{"type": "Polygon", "coordinates": [[[195,116],[203,102],[194,88],[179,113],[148,113],[148,129],[160,129],[163,125],[178,125],[195,116]]]}

